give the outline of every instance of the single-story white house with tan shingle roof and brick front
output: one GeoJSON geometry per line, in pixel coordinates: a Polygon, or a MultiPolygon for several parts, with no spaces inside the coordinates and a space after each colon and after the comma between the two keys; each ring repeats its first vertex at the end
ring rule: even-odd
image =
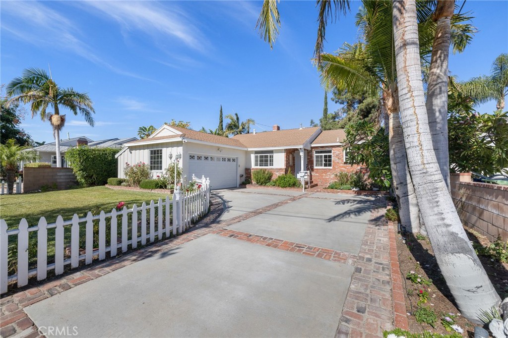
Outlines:
{"type": "MultiPolygon", "coordinates": [[[[344,131],[322,131],[320,127],[240,134],[232,138],[163,125],[150,137],[125,144],[118,158],[118,177],[123,178],[126,163],[150,165],[152,177],[162,175],[176,154],[183,180],[192,175],[210,178],[213,189],[238,187],[253,170],[265,168],[278,175],[310,171],[311,180],[326,186],[333,174],[356,171],[360,166],[344,164],[344,131]]],[[[296,176],[296,175],[295,175],[296,176]]]]}

